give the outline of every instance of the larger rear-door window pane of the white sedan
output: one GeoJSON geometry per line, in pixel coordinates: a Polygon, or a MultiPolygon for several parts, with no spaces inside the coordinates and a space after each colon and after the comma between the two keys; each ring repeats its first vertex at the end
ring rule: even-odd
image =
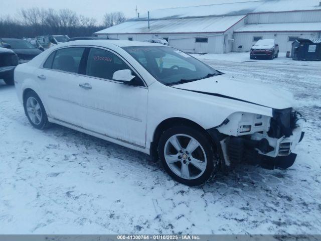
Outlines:
{"type": "Polygon", "coordinates": [[[85,48],[82,47],[57,50],[53,60],[52,68],[72,73],[78,73],[84,50],[85,48]]]}

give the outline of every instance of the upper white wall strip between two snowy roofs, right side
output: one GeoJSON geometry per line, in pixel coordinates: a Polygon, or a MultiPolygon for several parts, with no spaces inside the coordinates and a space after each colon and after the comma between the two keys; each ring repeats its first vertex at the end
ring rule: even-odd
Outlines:
{"type": "Polygon", "coordinates": [[[247,24],[321,22],[321,10],[249,14],[247,24]]]}

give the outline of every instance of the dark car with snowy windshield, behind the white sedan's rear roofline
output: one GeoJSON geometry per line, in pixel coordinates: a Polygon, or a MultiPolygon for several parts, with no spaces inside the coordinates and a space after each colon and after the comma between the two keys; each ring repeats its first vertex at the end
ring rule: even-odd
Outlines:
{"type": "Polygon", "coordinates": [[[40,49],[23,39],[2,38],[0,39],[0,47],[14,51],[18,55],[20,64],[26,63],[42,53],[40,49]]]}

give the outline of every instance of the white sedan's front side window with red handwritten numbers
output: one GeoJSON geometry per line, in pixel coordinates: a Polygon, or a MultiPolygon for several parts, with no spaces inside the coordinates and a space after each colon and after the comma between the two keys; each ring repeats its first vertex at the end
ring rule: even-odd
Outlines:
{"type": "MultiPolygon", "coordinates": [[[[114,72],[122,69],[131,70],[117,55],[103,49],[90,49],[87,60],[87,75],[112,80],[114,72]]],[[[135,75],[134,73],[132,74],[135,75]]],[[[132,79],[129,84],[143,85],[142,80],[138,76],[132,79]]]]}

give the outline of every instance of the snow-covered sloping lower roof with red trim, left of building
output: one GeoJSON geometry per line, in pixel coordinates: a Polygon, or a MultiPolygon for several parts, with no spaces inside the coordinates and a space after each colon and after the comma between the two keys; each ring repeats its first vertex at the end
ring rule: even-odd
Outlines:
{"type": "Polygon", "coordinates": [[[206,17],[194,19],[128,21],[94,34],[135,34],[135,33],[222,33],[245,18],[241,16],[206,17]]]}

